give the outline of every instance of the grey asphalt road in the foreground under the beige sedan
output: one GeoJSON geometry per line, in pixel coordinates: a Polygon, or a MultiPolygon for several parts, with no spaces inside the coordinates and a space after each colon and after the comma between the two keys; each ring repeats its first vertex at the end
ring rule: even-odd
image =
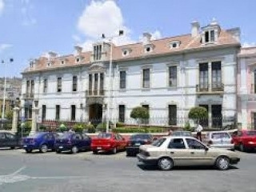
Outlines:
{"type": "MultiPolygon", "coordinates": [[[[240,152],[238,152],[240,153],[240,152]]],[[[26,154],[0,150],[0,192],[256,191],[256,153],[230,170],[183,167],[160,171],[125,153],[26,154]]]]}

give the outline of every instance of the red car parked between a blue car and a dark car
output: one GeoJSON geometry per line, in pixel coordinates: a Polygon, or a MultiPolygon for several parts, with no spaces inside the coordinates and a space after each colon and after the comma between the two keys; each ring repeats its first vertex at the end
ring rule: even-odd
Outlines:
{"type": "Polygon", "coordinates": [[[102,133],[97,138],[93,138],[91,142],[91,150],[94,154],[98,151],[112,152],[116,154],[118,150],[126,150],[126,139],[120,134],[102,133]]]}

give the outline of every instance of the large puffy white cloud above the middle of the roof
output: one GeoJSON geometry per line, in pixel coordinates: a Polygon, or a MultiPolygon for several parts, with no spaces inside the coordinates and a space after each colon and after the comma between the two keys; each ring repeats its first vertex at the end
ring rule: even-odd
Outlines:
{"type": "Polygon", "coordinates": [[[106,37],[113,36],[118,34],[118,30],[124,30],[125,33],[121,37],[114,38],[115,45],[121,46],[134,42],[130,38],[130,29],[124,24],[122,10],[114,0],[91,1],[78,18],[78,30],[87,39],[86,42],[80,43],[84,50],[91,50],[91,44],[97,42],[102,34],[106,37]]]}

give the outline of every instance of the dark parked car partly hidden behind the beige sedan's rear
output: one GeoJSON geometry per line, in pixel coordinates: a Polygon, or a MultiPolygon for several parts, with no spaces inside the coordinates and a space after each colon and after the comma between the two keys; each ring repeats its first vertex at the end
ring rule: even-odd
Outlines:
{"type": "Polygon", "coordinates": [[[127,156],[132,156],[138,154],[139,146],[150,144],[153,142],[153,137],[151,134],[133,134],[126,146],[127,156]]]}

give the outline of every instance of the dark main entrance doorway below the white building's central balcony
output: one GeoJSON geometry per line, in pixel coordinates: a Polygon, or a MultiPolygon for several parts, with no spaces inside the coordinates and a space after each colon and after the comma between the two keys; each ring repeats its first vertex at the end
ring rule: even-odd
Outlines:
{"type": "Polygon", "coordinates": [[[98,124],[102,122],[102,105],[94,103],[89,107],[89,121],[92,124],[98,124]]]}

